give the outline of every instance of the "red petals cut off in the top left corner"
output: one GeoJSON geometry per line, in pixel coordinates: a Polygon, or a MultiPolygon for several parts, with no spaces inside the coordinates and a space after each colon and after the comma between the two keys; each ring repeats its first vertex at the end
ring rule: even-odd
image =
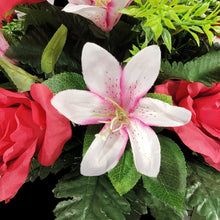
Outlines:
{"type": "Polygon", "coordinates": [[[11,11],[17,5],[26,4],[26,3],[34,4],[38,2],[44,2],[44,1],[46,0],[1,0],[0,1],[0,20],[4,20],[6,13],[11,11]]]}

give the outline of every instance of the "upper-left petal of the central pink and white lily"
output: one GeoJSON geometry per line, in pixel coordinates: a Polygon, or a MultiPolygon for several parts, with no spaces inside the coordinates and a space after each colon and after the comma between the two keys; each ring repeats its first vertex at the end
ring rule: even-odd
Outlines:
{"type": "Polygon", "coordinates": [[[102,47],[85,44],[82,52],[83,76],[87,87],[120,104],[121,66],[118,61],[102,47]]]}

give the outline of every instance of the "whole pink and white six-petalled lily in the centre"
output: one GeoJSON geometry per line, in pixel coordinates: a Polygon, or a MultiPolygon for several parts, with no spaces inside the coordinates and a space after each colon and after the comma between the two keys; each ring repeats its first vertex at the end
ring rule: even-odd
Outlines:
{"type": "Polygon", "coordinates": [[[64,90],[52,99],[75,124],[105,124],[83,157],[82,175],[97,176],[114,168],[128,139],[137,171],[150,177],[159,173],[160,143],[150,126],[181,126],[191,118],[184,108],[143,97],[159,74],[160,56],[158,46],[149,46],[122,69],[109,52],[85,44],[82,69],[90,91],[64,90]]]}

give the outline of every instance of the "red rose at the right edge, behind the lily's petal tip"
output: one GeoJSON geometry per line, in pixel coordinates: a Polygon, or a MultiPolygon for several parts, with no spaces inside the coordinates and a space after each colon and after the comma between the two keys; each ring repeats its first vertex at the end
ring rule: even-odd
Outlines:
{"type": "Polygon", "coordinates": [[[167,81],[156,86],[155,92],[171,95],[175,105],[192,112],[191,121],[174,131],[220,171],[220,83],[206,87],[198,82],[167,81]]]}

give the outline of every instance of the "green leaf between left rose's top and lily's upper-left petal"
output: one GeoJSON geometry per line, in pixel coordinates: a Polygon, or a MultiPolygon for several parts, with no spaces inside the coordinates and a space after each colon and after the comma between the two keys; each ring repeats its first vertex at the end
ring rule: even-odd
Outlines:
{"type": "Polygon", "coordinates": [[[60,73],[43,82],[53,93],[66,89],[87,90],[82,75],[77,73],[60,73]]]}

